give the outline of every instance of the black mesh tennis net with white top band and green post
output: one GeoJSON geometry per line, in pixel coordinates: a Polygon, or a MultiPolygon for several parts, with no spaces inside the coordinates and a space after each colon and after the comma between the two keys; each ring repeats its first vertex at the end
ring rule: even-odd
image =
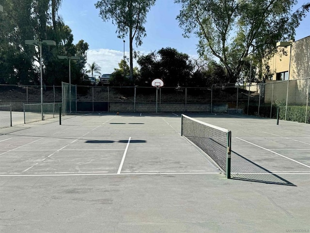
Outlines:
{"type": "Polygon", "coordinates": [[[182,136],[205,152],[230,178],[231,131],[182,115],[181,132],[182,136]]]}

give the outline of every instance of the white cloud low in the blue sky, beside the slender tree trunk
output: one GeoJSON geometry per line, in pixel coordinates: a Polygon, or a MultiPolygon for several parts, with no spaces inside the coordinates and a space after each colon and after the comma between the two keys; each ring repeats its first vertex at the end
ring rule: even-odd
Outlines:
{"type": "MultiPolygon", "coordinates": [[[[129,58],[129,52],[125,51],[125,57],[129,58]]],[[[92,64],[95,62],[98,66],[101,67],[101,74],[110,74],[114,72],[114,68],[118,68],[118,64],[123,58],[124,51],[109,49],[87,51],[87,63],[92,64]]],[[[134,67],[138,67],[138,64],[135,60],[133,65],[134,67]]]]}

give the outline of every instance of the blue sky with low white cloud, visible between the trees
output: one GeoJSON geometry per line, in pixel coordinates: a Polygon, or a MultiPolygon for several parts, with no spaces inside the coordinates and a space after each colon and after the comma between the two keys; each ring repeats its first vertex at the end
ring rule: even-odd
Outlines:
{"type": "MultiPolygon", "coordinates": [[[[309,0],[298,0],[295,8],[309,0]]],[[[117,38],[116,26],[111,22],[103,22],[99,17],[99,10],[94,4],[97,0],[62,0],[58,14],[63,18],[73,33],[74,43],[83,39],[89,44],[87,63],[96,62],[101,67],[101,73],[111,73],[123,59],[123,39],[117,38]]],[[[175,19],[179,14],[180,6],[174,0],[156,0],[147,15],[144,25],[147,36],[142,39],[143,44],[136,48],[141,53],[171,47],[179,52],[197,57],[195,37],[184,38],[183,30],[175,19]]],[[[310,35],[310,14],[301,22],[296,30],[295,40],[310,35]]],[[[125,56],[129,57],[129,40],[125,39],[125,56]]],[[[135,63],[134,63],[135,65],[135,63]]],[[[137,65],[136,65],[137,66],[137,65]]]]}

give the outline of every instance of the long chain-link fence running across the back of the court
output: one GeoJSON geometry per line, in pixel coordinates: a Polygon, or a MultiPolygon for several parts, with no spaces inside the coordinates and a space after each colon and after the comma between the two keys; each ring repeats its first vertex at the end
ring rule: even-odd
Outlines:
{"type": "MultiPolygon", "coordinates": [[[[106,112],[228,112],[310,123],[310,78],[266,81],[249,85],[214,84],[211,87],[112,87],[62,83],[43,90],[43,101],[62,102],[64,113],[106,112]],[[157,100],[157,101],[156,101],[157,100]],[[71,111],[70,111],[71,110],[71,111]]],[[[39,86],[0,85],[0,105],[40,103],[39,86]]]]}

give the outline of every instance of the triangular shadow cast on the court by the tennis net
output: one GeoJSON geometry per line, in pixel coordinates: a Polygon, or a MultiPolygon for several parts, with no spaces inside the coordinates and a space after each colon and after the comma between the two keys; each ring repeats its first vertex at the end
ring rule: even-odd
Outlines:
{"type": "Polygon", "coordinates": [[[297,186],[234,151],[231,167],[231,179],[234,180],[297,186]]]}

